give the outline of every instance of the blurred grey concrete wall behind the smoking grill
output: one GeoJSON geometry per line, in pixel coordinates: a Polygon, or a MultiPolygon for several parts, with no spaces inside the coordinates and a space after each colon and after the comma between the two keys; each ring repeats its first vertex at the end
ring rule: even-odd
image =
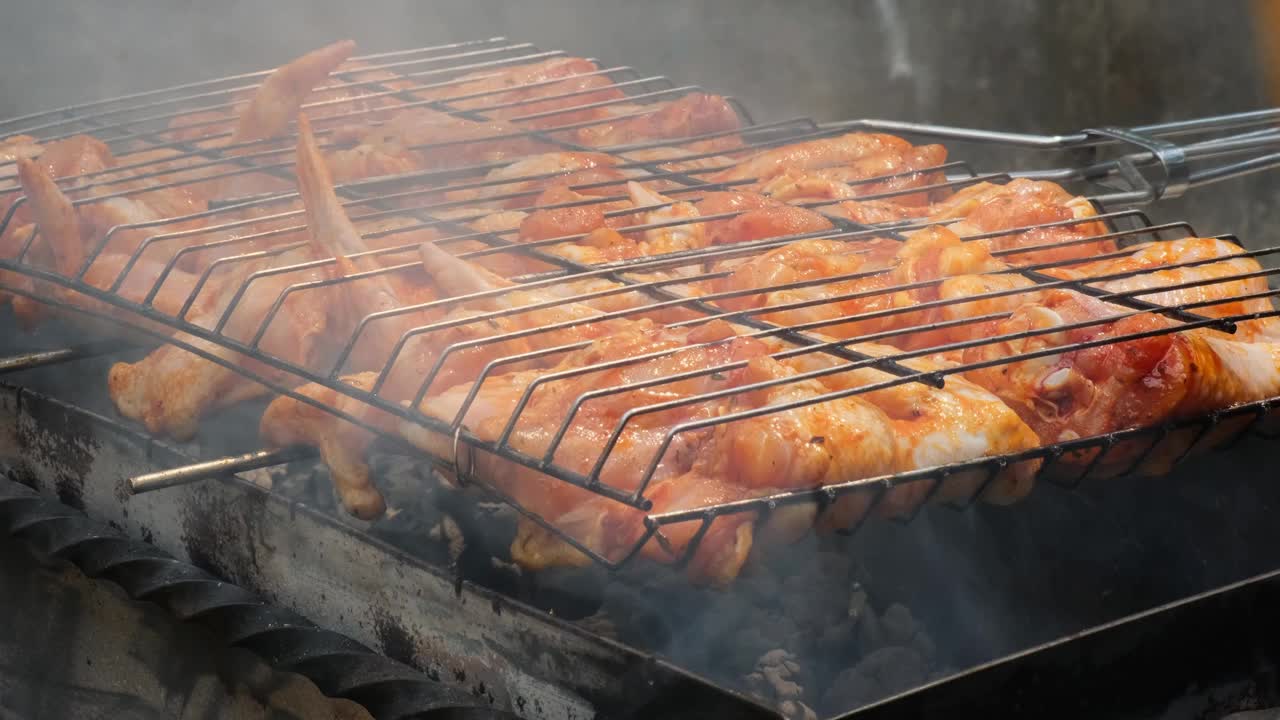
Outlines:
{"type": "MultiPolygon", "coordinates": [[[[506,35],[703,83],[762,120],[1068,132],[1280,102],[1265,96],[1254,42],[1253,10],[1268,1],[12,3],[0,18],[0,117],[260,69],[338,37],[378,51],[506,35]]],[[[1257,245],[1280,222],[1277,191],[1280,170],[1156,214],[1257,245]]]]}

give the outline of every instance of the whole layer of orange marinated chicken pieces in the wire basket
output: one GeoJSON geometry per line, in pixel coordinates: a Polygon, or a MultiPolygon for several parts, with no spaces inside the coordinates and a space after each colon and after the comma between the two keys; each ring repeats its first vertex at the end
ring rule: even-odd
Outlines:
{"type": "MultiPolygon", "coordinates": [[[[4,258],[35,237],[32,268],[186,311],[292,373],[56,282],[6,272],[0,284],[22,295],[14,309],[28,327],[47,311],[32,295],[105,315],[95,331],[120,332],[120,322],[182,343],[109,374],[119,411],[154,433],[186,439],[219,407],[288,389],[264,414],[261,437],[319,448],[357,518],[385,511],[366,456],[379,434],[397,433],[611,560],[645,539],[650,515],[861,480],[883,489],[842,493],[820,518],[815,505],[785,505],[768,518],[719,512],[705,532],[696,520],[664,524],[640,550],[664,564],[690,552],[694,580],[726,584],[756,542],[909,514],[927,496],[1012,502],[1041,464],[886,477],[1280,395],[1280,320],[1265,273],[1228,242],[1120,247],[1093,205],[1057,184],[952,192],[938,170],[943,147],[888,135],[748,151],[724,97],[630,102],[581,58],[499,61],[424,85],[351,61],[353,53],[351,41],[321,47],[224,106],[174,118],[166,137],[182,147],[113,141],[113,154],[88,136],[0,140],[0,164],[20,176],[20,188],[0,181],[0,218],[12,210],[4,258]],[[223,158],[202,167],[215,151],[223,158]],[[266,165],[291,151],[300,201],[201,217],[214,200],[287,195],[292,183],[266,165]],[[369,178],[419,187],[339,201],[334,179],[369,178]],[[863,237],[845,220],[901,234],[863,237]],[[550,274],[572,264],[609,273],[550,274]],[[1111,295],[1064,290],[1032,269],[1111,295]],[[1166,332],[1178,322],[1126,306],[1129,297],[1239,316],[1238,329],[1166,332]],[[872,360],[733,324],[745,318],[872,360]],[[946,384],[901,378],[876,359],[946,384]],[[306,384],[301,372],[352,392],[306,384]],[[411,411],[429,419],[406,420],[411,411]],[[462,455],[454,428],[652,507],[500,454],[462,455]]],[[[1180,433],[1158,448],[1117,442],[1100,466],[1162,470],[1194,439],[1180,433]]],[[[588,562],[527,520],[512,556],[530,570],[588,562]]]]}

